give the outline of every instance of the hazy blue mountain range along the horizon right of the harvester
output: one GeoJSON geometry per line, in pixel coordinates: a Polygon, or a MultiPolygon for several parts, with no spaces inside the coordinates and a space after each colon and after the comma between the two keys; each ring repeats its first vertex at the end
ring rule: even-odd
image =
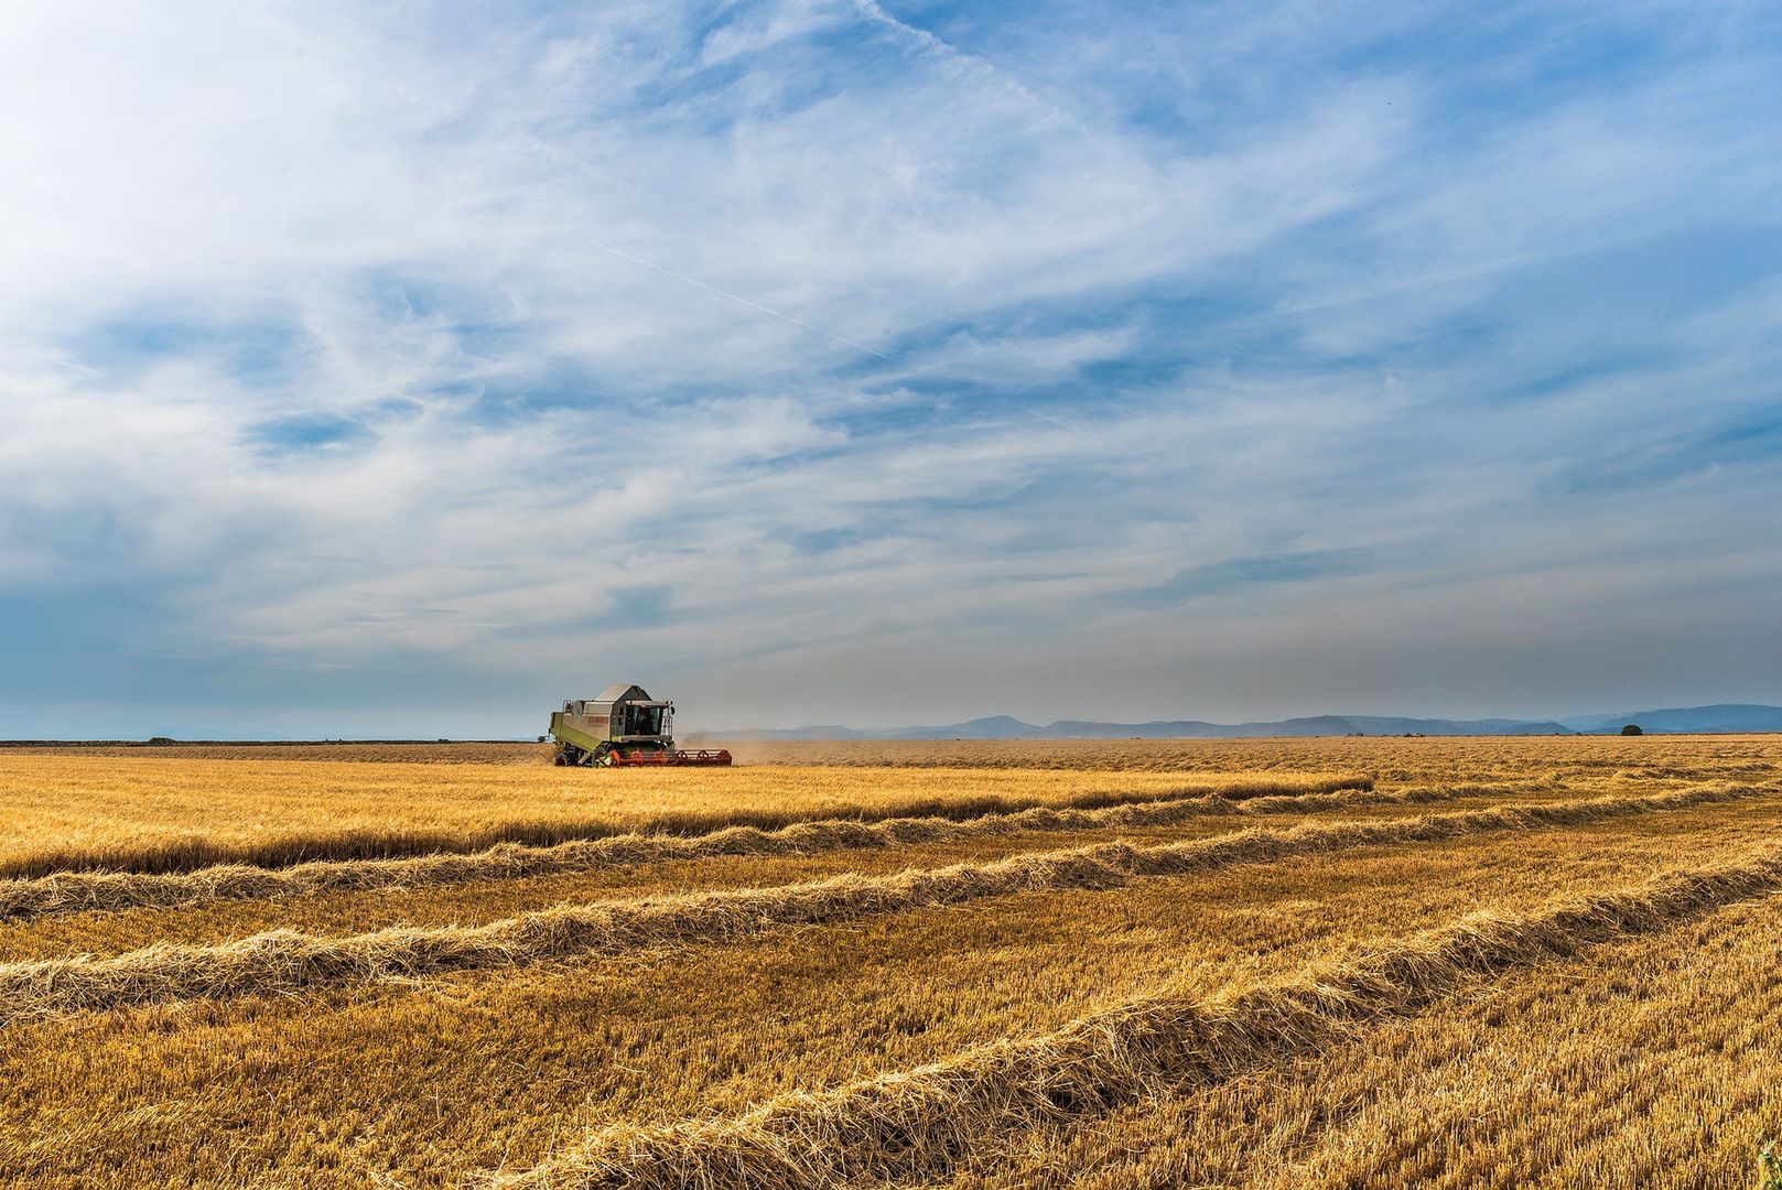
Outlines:
{"type": "Polygon", "coordinates": [[[1720,704],[1631,714],[1586,714],[1572,720],[1417,720],[1381,714],[1313,714],[1262,723],[1206,723],[1203,720],[1153,720],[1149,723],[1098,723],[1057,720],[1041,727],[1007,714],[936,727],[789,727],[750,732],[707,732],[736,739],[1255,739],[1263,736],[1572,736],[1613,734],[1638,723],[1654,734],[1666,732],[1782,732],[1782,707],[1720,704]]]}

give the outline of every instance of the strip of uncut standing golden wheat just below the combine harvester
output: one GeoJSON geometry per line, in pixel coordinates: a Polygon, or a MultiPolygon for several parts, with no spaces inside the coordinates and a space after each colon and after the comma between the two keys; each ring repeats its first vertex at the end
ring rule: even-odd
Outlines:
{"type": "MultiPolygon", "coordinates": [[[[818,775],[805,789],[788,795],[770,780],[772,773],[748,770],[723,771],[722,780],[702,778],[697,770],[624,773],[618,780],[599,786],[592,782],[601,782],[606,777],[602,773],[577,771],[565,778],[554,773],[567,770],[531,771],[510,766],[490,768],[486,773],[454,770],[453,795],[442,800],[426,784],[392,784],[378,766],[328,766],[365,771],[347,773],[353,780],[342,778],[339,795],[328,791],[324,796],[301,786],[294,793],[282,784],[287,775],[244,771],[226,761],[214,761],[203,770],[203,778],[212,784],[191,787],[169,789],[166,782],[196,778],[182,777],[178,770],[159,771],[169,766],[155,762],[139,762],[141,771],[87,773],[68,793],[46,784],[77,761],[78,757],[18,757],[12,768],[36,762],[36,771],[0,775],[25,778],[16,793],[0,780],[0,791],[12,793],[20,816],[36,821],[34,834],[43,837],[41,844],[25,850],[0,832],[0,876],[32,878],[59,871],[184,873],[221,864],[289,868],[312,860],[474,853],[501,843],[554,846],[638,832],[707,834],[725,827],[777,830],[827,818],[964,819],[1032,807],[1098,809],[1187,796],[1246,800],[1372,787],[1372,778],[1358,773],[1285,773],[1226,780],[1126,775],[1112,782],[1059,773],[968,773],[925,775],[911,782],[907,775],[902,780],[875,780],[870,773],[852,770],[841,782],[818,775]],[[225,771],[212,771],[217,766],[225,771]],[[479,784],[485,777],[486,786],[479,784]],[[695,780],[707,784],[693,786],[695,780]],[[91,812],[82,809],[86,803],[93,803],[91,812]],[[150,821],[127,821],[144,809],[150,811],[150,821]],[[230,814],[235,818],[225,818],[230,814]],[[102,828],[91,828],[89,819],[100,819],[102,828]],[[192,828],[194,821],[201,823],[198,830],[192,828]],[[242,823],[251,827],[242,828],[242,823]]],[[[401,770],[397,777],[405,778],[419,771],[415,766],[385,768],[401,770]]]]}

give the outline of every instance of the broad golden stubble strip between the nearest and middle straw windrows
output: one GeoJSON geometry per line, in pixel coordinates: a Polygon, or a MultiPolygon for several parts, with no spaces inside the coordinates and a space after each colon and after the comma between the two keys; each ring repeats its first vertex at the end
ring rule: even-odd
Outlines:
{"type": "Polygon", "coordinates": [[[303,1178],[347,1161],[335,1185],[374,1170],[454,1185],[504,1158],[535,1161],[570,1129],[747,1110],[795,1087],[907,1069],[985,1039],[1060,1028],[1183,967],[1205,994],[1278,978],[1477,905],[1513,909],[1711,859],[1777,825],[1759,805],[1714,807],[1663,825],[1648,816],[1116,892],[1003,898],[978,912],[927,910],[663,955],[643,969],[602,962],[467,976],[419,996],[396,989],[29,1026],[9,1035],[0,1058],[0,1119],[21,1129],[0,1153],[62,1129],[86,1135],[93,1161],[130,1178],[216,1174],[228,1154],[246,1153],[303,1178]],[[232,1106],[269,1088],[276,1112],[232,1106]],[[93,1110],[119,1099],[169,1104],[200,1122],[123,1129],[93,1110]],[[319,1121],[342,1115],[364,1133],[349,1160],[315,1137],[319,1121]]]}

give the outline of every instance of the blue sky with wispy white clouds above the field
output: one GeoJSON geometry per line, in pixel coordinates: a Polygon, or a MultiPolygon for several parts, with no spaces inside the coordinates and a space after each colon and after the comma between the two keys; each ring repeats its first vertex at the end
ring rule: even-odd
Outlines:
{"type": "Polygon", "coordinates": [[[1762,4],[0,36],[0,736],[1782,702],[1762,4]]]}

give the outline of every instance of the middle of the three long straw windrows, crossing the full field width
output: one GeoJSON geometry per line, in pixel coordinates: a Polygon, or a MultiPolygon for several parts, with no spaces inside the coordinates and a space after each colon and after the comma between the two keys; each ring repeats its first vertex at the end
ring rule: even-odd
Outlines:
{"type": "Polygon", "coordinates": [[[1486,830],[1581,825],[1773,795],[1770,786],[1691,789],[1645,798],[1590,798],[1493,807],[1408,819],[1251,828],[1214,839],[1133,846],[1110,843],[1016,855],[989,864],[838,876],[766,889],[604,901],[520,914],[481,926],[390,928],[346,937],[274,930],[221,946],[155,944],[112,958],[91,955],[0,964],[0,1024],[171,999],[289,994],[380,978],[510,967],[551,958],[747,937],[773,926],[827,925],[960,905],[1010,892],[1112,889],[1137,876],[1176,876],[1246,862],[1358,846],[1429,843],[1486,830]]]}

